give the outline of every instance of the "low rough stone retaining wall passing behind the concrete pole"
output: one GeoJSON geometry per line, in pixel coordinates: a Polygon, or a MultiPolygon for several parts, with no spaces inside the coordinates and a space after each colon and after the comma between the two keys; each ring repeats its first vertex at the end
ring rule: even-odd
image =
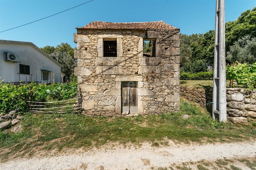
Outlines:
{"type": "MultiPolygon", "coordinates": [[[[212,111],[212,87],[196,88],[180,86],[180,96],[187,100],[200,103],[212,111]]],[[[228,119],[234,123],[247,122],[246,118],[256,118],[256,91],[242,88],[227,88],[228,119]],[[245,120],[246,119],[246,120],[245,120]]]]}

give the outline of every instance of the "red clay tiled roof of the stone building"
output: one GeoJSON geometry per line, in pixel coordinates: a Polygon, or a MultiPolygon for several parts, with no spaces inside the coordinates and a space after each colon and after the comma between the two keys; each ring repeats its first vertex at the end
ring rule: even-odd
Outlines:
{"type": "Polygon", "coordinates": [[[177,29],[164,21],[154,22],[102,22],[93,21],[86,26],[81,27],[83,29],[163,29],[171,30],[177,29]]]}

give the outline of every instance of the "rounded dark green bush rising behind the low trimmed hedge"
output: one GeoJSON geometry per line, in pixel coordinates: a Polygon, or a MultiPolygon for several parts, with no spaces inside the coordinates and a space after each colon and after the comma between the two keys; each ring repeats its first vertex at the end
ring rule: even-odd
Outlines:
{"type": "Polygon", "coordinates": [[[183,67],[180,68],[181,72],[206,72],[207,71],[207,63],[205,60],[194,60],[185,63],[183,67]]]}

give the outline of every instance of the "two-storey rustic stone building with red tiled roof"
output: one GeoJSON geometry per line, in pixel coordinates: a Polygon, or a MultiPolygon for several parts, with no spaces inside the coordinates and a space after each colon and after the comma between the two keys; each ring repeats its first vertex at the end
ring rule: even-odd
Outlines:
{"type": "Polygon", "coordinates": [[[75,75],[86,115],[179,110],[180,29],[163,21],[94,21],[76,28],[75,75]]]}

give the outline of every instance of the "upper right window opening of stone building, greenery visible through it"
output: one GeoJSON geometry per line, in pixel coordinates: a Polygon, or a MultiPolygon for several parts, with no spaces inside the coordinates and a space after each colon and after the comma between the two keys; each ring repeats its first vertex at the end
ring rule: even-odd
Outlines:
{"type": "Polygon", "coordinates": [[[143,39],[143,56],[156,56],[156,39],[143,39]]]}

